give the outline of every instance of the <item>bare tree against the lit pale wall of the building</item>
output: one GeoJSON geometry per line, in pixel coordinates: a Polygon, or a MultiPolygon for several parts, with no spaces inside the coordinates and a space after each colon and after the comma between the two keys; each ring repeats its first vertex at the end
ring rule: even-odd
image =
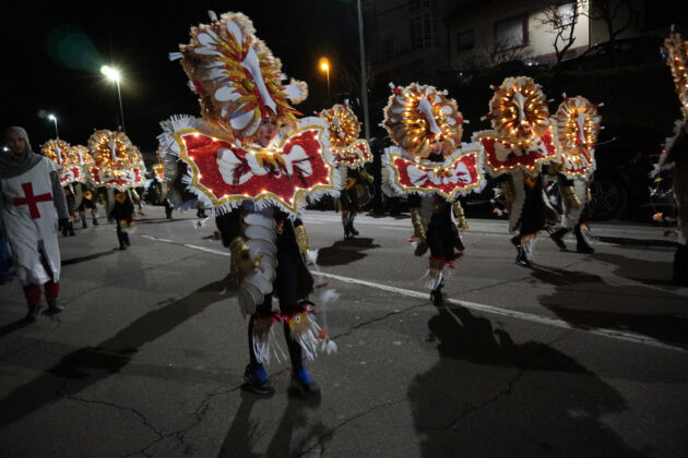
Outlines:
{"type": "Polygon", "coordinates": [[[559,73],[561,60],[576,41],[576,24],[584,11],[586,0],[573,0],[558,4],[548,4],[539,20],[541,25],[548,28],[555,35],[553,46],[555,48],[555,73],[559,73]]]}

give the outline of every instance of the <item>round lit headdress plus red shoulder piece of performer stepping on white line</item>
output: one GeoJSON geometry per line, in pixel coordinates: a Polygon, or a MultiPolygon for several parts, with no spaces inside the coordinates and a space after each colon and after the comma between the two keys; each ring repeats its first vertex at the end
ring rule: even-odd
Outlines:
{"type": "Polygon", "coordinates": [[[382,155],[388,193],[437,193],[452,200],[479,192],[485,186],[479,147],[461,143],[466,121],[456,101],[432,86],[391,87],[383,125],[395,146],[382,155]],[[426,160],[435,140],[444,152],[441,161],[426,160]]]}

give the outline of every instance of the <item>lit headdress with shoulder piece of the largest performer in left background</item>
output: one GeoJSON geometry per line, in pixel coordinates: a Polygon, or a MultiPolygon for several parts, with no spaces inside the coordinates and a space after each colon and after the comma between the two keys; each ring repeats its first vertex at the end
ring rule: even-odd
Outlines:
{"type": "Polygon", "coordinates": [[[88,176],[96,186],[119,190],[141,186],[145,168],[141,152],[121,131],[95,131],[88,138],[93,165],[88,176]]]}

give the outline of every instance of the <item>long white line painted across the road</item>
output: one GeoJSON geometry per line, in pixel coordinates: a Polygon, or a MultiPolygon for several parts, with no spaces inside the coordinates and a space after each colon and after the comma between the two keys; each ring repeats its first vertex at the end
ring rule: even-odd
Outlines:
{"type": "MultiPolygon", "coordinates": [[[[181,246],[187,246],[193,250],[199,250],[199,251],[204,251],[207,253],[213,253],[213,254],[218,254],[221,256],[229,256],[230,254],[226,251],[220,251],[220,250],[213,250],[213,249],[209,249],[205,246],[199,246],[199,245],[191,245],[188,243],[180,243],[180,242],[175,242],[168,239],[162,239],[158,237],[153,237],[153,236],[142,236],[145,239],[150,239],[153,241],[157,241],[157,242],[165,242],[165,243],[173,243],[176,245],[181,245],[181,246]]],[[[381,289],[383,291],[389,291],[389,292],[393,292],[396,294],[401,294],[401,296],[407,296],[410,298],[418,298],[418,299],[428,299],[428,292],[424,291],[414,291],[411,289],[404,289],[404,288],[398,288],[398,287],[393,287],[393,286],[389,286],[389,285],[382,285],[382,284],[376,284],[373,281],[367,281],[367,280],[360,280],[358,278],[351,278],[351,277],[342,277],[340,275],[334,275],[334,274],[327,274],[324,272],[311,272],[313,275],[320,276],[320,277],[324,277],[324,278],[331,278],[333,280],[337,280],[337,281],[342,281],[345,284],[353,284],[353,285],[360,285],[360,286],[366,286],[369,288],[376,288],[376,289],[381,289]]],[[[688,350],[681,347],[676,347],[673,345],[668,345],[665,343],[661,340],[656,340],[653,339],[651,337],[647,337],[647,336],[642,336],[639,334],[632,334],[632,333],[624,333],[621,330],[617,330],[617,329],[608,329],[608,328],[581,328],[581,327],[577,327],[571,325],[570,323],[567,323],[562,320],[558,320],[558,318],[553,318],[553,317],[548,317],[548,316],[541,316],[541,315],[534,315],[532,313],[524,313],[524,312],[519,312],[515,310],[508,310],[508,309],[500,309],[494,305],[486,305],[486,304],[479,304],[477,302],[470,302],[470,301],[462,301],[459,299],[451,299],[448,298],[447,302],[450,302],[452,304],[455,305],[460,305],[466,309],[471,309],[471,310],[475,310],[478,312],[483,312],[483,313],[490,313],[490,314],[495,314],[495,315],[502,315],[502,316],[509,316],[511,318],[515,318],[515,320],[522,320],[522,321],[527,321],[527,322],[532,322],[532,323],[538,323],[538,324],[543,324],[543,325],[547,325],[547,326],[555,326],[555,327],[560,327],[564,329],[572,329],[572,330],[577,330],[580,333],[586,333],[586,334],[592,334],[595,336],[601,336],[601,337],[606,337],[606,338],[610,338],[610,339],[617,339],[617,340],[625,340],[625,341],[629,341],[629,342],[633,342],[633,343],[640,343],[640,345],[645,345],[649,347],[655,347],[655,348],[661,348],[664,350],[674,350],[674,351],[680,351],[684,353],[688,353],[688,350]]],[[[461,320],[450,310],[447,309],[447,311],[453,316],[454,320],[456,320],[458,323],[461,323],[461,320]]]]}

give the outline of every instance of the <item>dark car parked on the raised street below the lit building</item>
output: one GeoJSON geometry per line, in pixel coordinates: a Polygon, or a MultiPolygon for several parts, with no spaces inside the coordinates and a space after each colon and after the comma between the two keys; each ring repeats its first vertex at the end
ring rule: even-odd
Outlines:
{"type": "Polygon", "coordinates": [[[605,41],[595,45],[574,59],[560,63],[564,71],[606,69],[610,67],[661,63],[664,61],[664,39],[659,37],[636,37],[605,41]]]}

